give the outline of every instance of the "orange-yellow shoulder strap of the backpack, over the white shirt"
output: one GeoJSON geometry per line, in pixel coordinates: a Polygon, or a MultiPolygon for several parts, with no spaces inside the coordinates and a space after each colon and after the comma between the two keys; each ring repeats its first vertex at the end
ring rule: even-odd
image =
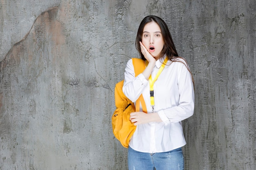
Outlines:
{"type": "MultiPolygon", "coordinates": [[[[134,67],[135,77],[137,77],[137,75],[142,73],[146,68],[146,62],[142,59],[139,59],[139,58],[132,58],[132,64],[133,64],[133,67],[134,67]]],[[[140,104],[142,106],[142,111],[144,113],[148,113],[146,103],[144,101],[144,98],[143,98],[142,94],[136,100],[136,112],[139,111],[140,104]]]]}

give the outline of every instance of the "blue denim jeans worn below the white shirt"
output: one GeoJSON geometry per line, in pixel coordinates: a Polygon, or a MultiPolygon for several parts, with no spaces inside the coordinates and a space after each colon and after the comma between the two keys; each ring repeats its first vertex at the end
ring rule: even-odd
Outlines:
{"type": "Polygon", "coordinates": [[[129,170],[183,170],[184,158],[181,148],[160,153],[144,153],[128,148],[129,170]]]}

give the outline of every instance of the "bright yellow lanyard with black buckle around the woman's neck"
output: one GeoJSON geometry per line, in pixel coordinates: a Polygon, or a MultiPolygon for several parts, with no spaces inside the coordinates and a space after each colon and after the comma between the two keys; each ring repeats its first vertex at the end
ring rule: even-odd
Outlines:
{"type": "Polygon", "coordinates": [[[164,59],[164,62],[162,64],[162,66],[159,68],[159,71],[157,72],[157,75],[155,76],[154,80],[152,80],[151,75],[149,76],[149,87],[150,87],[150,105],[152,107],[152,111],[154,111],[154,106],[155,106],[155,100],[154,100],[154,83],[157,80],[157,78],[159,77],[159,75],[162,73],[164,66],[166,65],[166,63],[168,62],[168,57],[166,56],[164,59]]]}

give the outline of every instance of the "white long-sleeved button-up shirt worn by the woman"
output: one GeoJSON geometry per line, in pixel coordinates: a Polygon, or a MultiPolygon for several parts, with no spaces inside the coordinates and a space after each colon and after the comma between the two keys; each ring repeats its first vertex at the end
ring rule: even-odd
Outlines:
{"type": "MultiPolygon", "coordinates": [[[[152,79],[163,61],[164,57],[156,61],[152,79]]],[[[162,122],[137,125],[129,143],[132,149],[149,153],[167,152],[186,144],[181,121],[193,115],[194,90],[185,60],[180,58],[178,61],[168,60],[154,83],[154,112],[158,113],[162,122]]],[[[123,92],[126,97],[135,102],[142,93],[148,114],[152,113],[149,82],[142,73],[135,77],[132,60],[127,62],[124,76],[123,92]]]]}

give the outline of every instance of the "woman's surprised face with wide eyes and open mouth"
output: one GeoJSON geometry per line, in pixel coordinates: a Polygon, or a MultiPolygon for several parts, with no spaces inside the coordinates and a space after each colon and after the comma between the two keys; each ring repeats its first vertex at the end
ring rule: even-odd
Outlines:
{"type": "Polygon", "coordinates": [[[148,22],[143,29],[142,44],[148,52],[158,60],[164,47],[164,38],[161,29],[156,22],[148,22]]]}

